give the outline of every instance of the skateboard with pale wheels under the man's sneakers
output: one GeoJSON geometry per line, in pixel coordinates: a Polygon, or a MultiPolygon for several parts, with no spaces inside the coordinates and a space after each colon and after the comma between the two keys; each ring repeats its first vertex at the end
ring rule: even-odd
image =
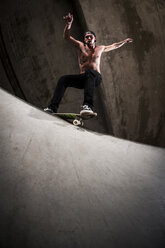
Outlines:
{"type": "MultiPolygon", "coordinates": [[[[83,113],[83,114],[75,114],[75,113],[55,113],[53,115],[59,116],[64,120],[72,120],[72,124],[74,126],[84,126],[83,120],[88,120],[97,116],[97,113],[83,113]]],[[[70,121],[69,121],[70,122],[70,121]]]]}

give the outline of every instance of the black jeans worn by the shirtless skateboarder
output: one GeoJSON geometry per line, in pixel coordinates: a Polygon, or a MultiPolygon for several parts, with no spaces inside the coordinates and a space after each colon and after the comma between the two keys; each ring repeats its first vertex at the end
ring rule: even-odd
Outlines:
{"type": "Polygon", "coordinates": [[[54,91],[54,95],[49,105],[49,108],[53,109],[56,112],[66,88],[74,87],[78,89],[84,89],[83,105],[88,105],[91,109],[93,109],[95,87],[97,87],[101,83],[101,81],[101,74],[93,69],[89,69],[85,73],[78,75],[62,76],[58,80],[57,87],[54,91]]]}

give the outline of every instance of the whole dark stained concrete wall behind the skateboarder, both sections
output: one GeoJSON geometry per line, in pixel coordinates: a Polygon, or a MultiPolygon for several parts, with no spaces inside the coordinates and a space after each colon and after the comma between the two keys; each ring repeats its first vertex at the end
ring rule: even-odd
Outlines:
{"type": "MultiPolygon", "coordinates": [[[[107,116],[108,129],[112,125],[115,136],[165,146],[165,3],[161,0],[1,1],[1,32],[16,76],[13,81],[20,83],[27,101],[47,106],[58,78],[79,72],[77,54],[62,38],[62,16],[68,11],[74,14],[72,35],[77,39],[86,24],[95,31],[97,44],[134,38],[134,43],[103,54],[103,84],[96,92],[99,118],[87,126],[106,132],[107,116]]],[[[67,90],[60,111],[79,111],[82,99],[82,91],[67,90]]]]}

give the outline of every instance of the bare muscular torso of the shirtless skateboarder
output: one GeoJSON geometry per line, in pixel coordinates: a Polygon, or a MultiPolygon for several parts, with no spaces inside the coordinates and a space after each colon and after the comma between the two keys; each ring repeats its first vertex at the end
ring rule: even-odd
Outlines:
{"type": "Polygon", "coordinates": [[[88,69],[96,70],[100,73],[100,59],[104,50],[104,46],[89,48],[87,45],[81,47],[78,51],[78,62],[80,73],[84,73],[88,69]]]}

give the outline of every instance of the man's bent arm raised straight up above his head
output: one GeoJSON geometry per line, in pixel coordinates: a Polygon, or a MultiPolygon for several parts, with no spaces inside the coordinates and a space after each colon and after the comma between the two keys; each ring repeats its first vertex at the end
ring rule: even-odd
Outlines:
{"type": "Polygon", "coordinates": [[[73,15],[68,13],[67,16],[63,17],[63,19],[66,21],[66,26],[64,28],[64,35],[63,35],[64,39],[67,40],[67,41],[70,41],[72,45],[80,48],[80,46],[82,45],[82,42],[74,39],[70,35],[70,29],[71,29],[72,22],[73,22],[73,15]]]}

